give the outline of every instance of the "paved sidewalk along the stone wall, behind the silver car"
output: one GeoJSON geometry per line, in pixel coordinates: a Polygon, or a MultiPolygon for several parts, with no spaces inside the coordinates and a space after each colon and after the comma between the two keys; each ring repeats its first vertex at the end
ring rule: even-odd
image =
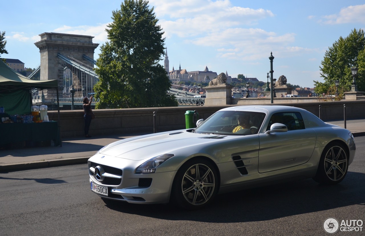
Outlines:
{"type": "MultiPolygon", "coordinates": [[[[344,121],[327,121],[344,127],[344,121]]],[[[347,120],[346,128],[354,136],[365,135],[365,119],[347,120]]],[[[87,160],[105,145],[120,139],[142,134],[127,134],[124,136],[105,135],[92,138],[62,139],[62,147],[39,147],[12,150],[0,150],[0,172],[22,169],[37,169],[51,166],[76,165],[87,163],[87,160]]]]}

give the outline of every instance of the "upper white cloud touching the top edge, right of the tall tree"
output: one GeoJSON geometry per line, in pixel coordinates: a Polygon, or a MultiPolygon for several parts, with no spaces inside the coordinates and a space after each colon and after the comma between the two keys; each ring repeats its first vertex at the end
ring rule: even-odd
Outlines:
{"type": "Polygon", "coordinates": [[[178,35],[191,37],[199,34],[220,32],[226,28],[257,24],[258,20],[273,17],[265,9],[251,9],[232,6],[230,1],[185,0],[166,1],[151,0],[158,24],[165,31],[166,37],[178,35]]]}

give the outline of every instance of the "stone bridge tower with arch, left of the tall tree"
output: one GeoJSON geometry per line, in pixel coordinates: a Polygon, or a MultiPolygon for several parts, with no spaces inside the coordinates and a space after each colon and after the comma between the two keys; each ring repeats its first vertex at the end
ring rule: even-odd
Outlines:
{"type": "MultiPolygon", "coordinates": [[[[41,53],[41,77],[40,80],[58,80],[59,97],[63,97],[62,90],[64,89],[63,76],[66,68],[72,71],[72,84],[76,90],[74,96],[82,97],[85,86],[91,86],[93,83],[87,83],[85,73],[82,73],[76,67],[69,65],[58,57],[58,53],[62,54],[71,60],[79,61],[93,68],[94,65],[83,55],[93,59],[94,50],[99,46],[99,43],[93,43],[93,36],[75,35],[75,34],[59,34],[59,33],[43,33],[40,34],[41,40],[34,43],[39,48],[41,53]]],[[[94,78],[95,79],[95,78],[94,78]]],[[[94,83],[95,84],[95,83],[94,83]]],[[[57,97],[55,89],[43,90],[45,98],[57,97]]]]}

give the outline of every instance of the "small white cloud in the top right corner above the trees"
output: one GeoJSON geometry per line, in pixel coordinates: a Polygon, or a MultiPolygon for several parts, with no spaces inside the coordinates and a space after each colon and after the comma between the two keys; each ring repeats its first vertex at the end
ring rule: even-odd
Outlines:
{"type": "Polygon", "coordinates": [[[342,8],[338,14],[323,16],[325,24],[364,23],[365,4],[342,8]]]}

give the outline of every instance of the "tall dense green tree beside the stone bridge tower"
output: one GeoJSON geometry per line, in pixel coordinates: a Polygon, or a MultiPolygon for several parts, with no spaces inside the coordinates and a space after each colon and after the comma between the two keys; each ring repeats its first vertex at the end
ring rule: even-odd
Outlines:
{"type": "Polygon", "coordinates": [[[120,10],[112,11],[112,19],[106,29],[109,42],[101,46],[96,63],[96,108],[177,106],[166,93],[170,81],[158,63],[165,38],[148,1],[125,0],[120,10]]]}

